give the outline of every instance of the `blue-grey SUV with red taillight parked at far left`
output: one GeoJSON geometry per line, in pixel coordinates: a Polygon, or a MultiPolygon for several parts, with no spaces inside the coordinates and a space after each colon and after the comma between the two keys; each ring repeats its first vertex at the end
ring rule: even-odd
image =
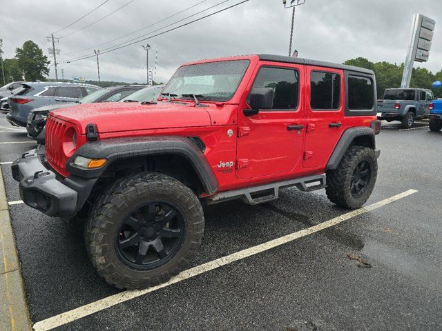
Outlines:
{"type": "Polygon", "coordinates": [[[79,101],[98,86],[78,83],[21,83],[8,99],[9,112],[6,119],[12,126],[25,126],[30,112],[37,107],[54,103],[79,101]]]}

